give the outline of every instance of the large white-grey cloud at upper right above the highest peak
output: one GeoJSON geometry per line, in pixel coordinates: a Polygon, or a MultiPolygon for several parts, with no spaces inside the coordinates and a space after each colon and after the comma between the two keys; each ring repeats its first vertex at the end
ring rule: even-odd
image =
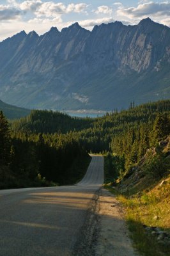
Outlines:
{"type": "Polygon", "coordinates": [[[170,3],[162,2],[162,3],[143,3],[139,4],[136,8],[124,8],[117,11],[118,15],[133,19],[133,18],[143,18],[150,15],[157,15],[157,17],[161,16],[169,16],[170,15],[170,3]]]}

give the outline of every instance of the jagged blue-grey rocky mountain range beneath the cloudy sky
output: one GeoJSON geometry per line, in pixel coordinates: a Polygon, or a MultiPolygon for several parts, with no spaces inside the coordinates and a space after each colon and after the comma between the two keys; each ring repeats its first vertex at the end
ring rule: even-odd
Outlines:
{"type": "Polygon", "coordinates": [[[113,109],[170,96],[170,28],[78,23],[0,43],[0,99],[27,108],[113,109]]]}

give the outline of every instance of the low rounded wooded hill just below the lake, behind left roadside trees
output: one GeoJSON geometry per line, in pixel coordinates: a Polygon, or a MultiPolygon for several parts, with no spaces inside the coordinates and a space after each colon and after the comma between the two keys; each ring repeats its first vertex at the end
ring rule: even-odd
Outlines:
{"type": "Polygon", "coordinates": [[[47,110],[32,110],[30,115],[12,123],[13,131],[27,133],[66,133],[81,131],[91,126],[93,118],[71,117],[65,113],[47,110]]]}

